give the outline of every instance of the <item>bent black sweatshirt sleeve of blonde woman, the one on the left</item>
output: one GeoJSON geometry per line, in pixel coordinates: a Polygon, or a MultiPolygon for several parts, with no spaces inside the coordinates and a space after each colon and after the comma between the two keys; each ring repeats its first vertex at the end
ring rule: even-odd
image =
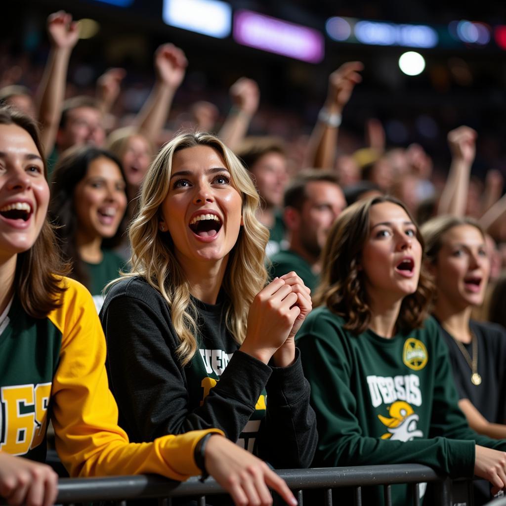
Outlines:
{"type": "Polygon", "coordinates": [[[123,294],[106,301],[101,318],[111,390],[133,440],[216,427],[237,441],[271,375],[268,365],[236,351],[201,405],[190,406],[168,311],[123,294]]]}

